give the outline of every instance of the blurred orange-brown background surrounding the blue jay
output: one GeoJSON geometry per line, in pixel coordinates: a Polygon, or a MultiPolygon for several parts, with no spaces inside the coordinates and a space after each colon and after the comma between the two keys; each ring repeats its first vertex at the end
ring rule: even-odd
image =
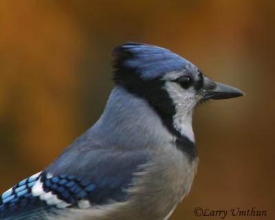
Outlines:
{"type": "Polygon", "coordinates": [[[198,219],[197,206],[274,219],[274,24],[274,1],[0,1],[0,191],[96,122],[113,46],[139,41],[247,94],[196,110],[198,173],[171,219],[198,219]]]}

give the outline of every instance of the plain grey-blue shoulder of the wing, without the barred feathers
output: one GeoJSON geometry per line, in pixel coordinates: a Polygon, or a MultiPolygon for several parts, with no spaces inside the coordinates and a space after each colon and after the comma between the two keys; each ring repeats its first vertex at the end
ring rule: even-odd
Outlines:
{"type": "Polygon", "coordinates": [[[107,146],[101,149],[82,147],[80,151],[72,144],[72,148],[61,154],[45,171],[58,177],[65,173],[80,176],[85,183],[91,184],[89,186],[94,184],[95,188],[86,197],[91,204],[124,201],[125,189],[131,186],[133,173],[140,171],[138,166],[146,163],[148,155],[146,150],[121,151],[107,146]]]}

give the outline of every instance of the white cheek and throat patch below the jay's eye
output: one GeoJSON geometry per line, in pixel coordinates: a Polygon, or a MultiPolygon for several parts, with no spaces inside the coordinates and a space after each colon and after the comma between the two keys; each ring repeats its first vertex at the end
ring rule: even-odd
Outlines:
{"type": "Polygon", "coordinates": [[[180,85],[172,82],[166,82],[164,87],[175,104],[176,113],[173,116],[175,129],[195,142],[192,130],[192,111],[197,104],[195,91],[182,89],[180,85]]]}

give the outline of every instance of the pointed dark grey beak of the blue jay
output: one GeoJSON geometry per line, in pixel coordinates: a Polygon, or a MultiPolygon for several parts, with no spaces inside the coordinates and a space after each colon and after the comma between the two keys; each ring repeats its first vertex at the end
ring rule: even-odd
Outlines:
{"type": "Polygon", "coordinates": [[[236,98],[239,96],[244,96],[243,91],[236,89],[230,85],[225,85],[223,83],[217,83],[210,78],[204,77],[203,83],[203,99],[226,99],[226,98],[236,98]]]}

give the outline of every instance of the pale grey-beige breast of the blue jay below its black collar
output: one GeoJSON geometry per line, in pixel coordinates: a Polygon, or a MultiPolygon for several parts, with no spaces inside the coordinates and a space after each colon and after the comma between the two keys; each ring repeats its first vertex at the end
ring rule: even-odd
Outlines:
{"type": "Polygon", "coordinates": [[[197,171],[197,157],[190,157],[172,144],[160,147],[151,164],[137,179],[133,192],[133,209],[144,214],[142,219],[165,219],[192,185],[197,171]]]}

